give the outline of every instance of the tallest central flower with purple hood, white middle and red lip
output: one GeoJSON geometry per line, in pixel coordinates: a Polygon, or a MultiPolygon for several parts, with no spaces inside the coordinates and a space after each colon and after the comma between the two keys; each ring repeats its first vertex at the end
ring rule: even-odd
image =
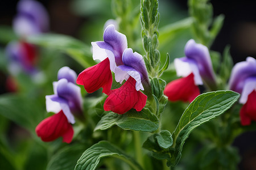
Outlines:
{"type": "Polygon", "coordinates": [[[101,62],[82,71],[76,81],[89,93],[102,87],[102,92],[108,94],[112,86],[111,70],[115,72],[116,67],[123,64],[122,54],[127,48],[126,36],[115,31],[114,25],[109,25],[104,31],[103,39],[104,41],[92,42],[93,59],[101,62]]]}

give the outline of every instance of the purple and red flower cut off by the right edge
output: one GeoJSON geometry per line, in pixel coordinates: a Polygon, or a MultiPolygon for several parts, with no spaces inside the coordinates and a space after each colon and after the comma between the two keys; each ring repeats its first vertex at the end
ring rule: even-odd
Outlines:
{"type": "Polygon", "coordinates": [[[233,67],[229,88],[241,94],[241,124],[250,125],[252,120],[256,121],[256,60],[253,57],[247,57],[246,61],[233,67]]]}

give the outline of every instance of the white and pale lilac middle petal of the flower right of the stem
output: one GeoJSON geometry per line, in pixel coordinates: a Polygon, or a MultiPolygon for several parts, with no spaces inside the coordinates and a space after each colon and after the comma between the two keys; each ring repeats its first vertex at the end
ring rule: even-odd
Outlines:
{"type": "Polygon", "coordinates": [[[174,66],[176,69],[177,76],[186,77],[189,74],[193,73],[195,85],[202,85],[203,81],[199,74],[199,69],[196,65],[196,62],[193,59],[187,57],[175,58],[174,66]]]}

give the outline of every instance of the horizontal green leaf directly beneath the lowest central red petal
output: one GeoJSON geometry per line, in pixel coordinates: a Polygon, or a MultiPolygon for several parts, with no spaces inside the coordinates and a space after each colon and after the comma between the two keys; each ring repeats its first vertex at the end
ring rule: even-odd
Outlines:
{"type": "Polygon", "coordinates": [[[158,129],[159,121],[155,114],[151,113],[149,109],[144,108],[140,112],[131,109],[125,114],[113,112],[106,114],[98,122],[94,130],[106,130],[114,125],[125,130],[152,132],[158,129]]]}

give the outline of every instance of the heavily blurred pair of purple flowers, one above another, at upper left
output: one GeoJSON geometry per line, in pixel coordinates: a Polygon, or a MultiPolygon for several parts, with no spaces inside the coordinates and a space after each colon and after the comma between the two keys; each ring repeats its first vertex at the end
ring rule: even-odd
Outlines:
{"type": "Polygon", "coordinates": [[[13,29],[19,41],[7,45],[6,56],[10,61],[9,70],[17,74],[21,70],[26,73],[35,72],[36,48],[26,42],[27,36],[48,31],[48,14],[37,1],[22,0],[18,2],[18,13],[13,20],[13,29]]]}

